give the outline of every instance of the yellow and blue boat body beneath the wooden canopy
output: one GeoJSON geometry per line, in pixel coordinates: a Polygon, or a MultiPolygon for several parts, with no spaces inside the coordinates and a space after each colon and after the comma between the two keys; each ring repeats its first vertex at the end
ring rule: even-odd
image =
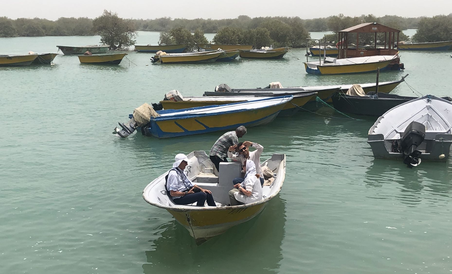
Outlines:
{"type": "MultiPolygon", "coordinates": [[[[389,65],[399,60],[399,56],[379,55],[336,59],[326,57],[325,60],[304,62],[306,72],[309,74],[348,74],[363,73],[381,70],[390,70],[389,65]]],[[[398,66],[396,67],[398,68],[398,66]]]]}

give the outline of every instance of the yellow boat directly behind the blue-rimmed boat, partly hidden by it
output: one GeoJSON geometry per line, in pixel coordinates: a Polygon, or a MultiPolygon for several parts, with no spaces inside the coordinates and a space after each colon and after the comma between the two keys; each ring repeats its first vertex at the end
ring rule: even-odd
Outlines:
{"type": "MultiPolygon", "coordinates": [[[[307,102],[311,100],[315,100],[317,93],[301,93],[297,95],[293,95],[292,101],[288,102],[282,110],[279,112],[278,117],[286,117],[292,116],[295,114],[299,108],[295,105],[302,107],[307,102]],[[295,105],[294,105],[295,104],[295,105]]],[[[254,95],[245,95],[245,96],[190,96],[184,97],[183,101],[174,102],[171,100],[162,100],[160,103],[164,109],[184,109],[191,107],[206,107],[206,106],[214,106],[214,105],[226,105],[237,102],[245,102],[245,101],[253,101],[259,99],[271,98],[269,96],[254,96],[254,95]]]]}

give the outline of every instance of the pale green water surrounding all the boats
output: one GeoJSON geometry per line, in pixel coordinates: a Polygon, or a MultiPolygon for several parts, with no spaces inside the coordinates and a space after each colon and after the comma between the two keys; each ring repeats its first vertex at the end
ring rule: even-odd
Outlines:
{"type": "MultiPolygon", "coordinates": [[[[137,42],[157,39],[140,33],[137,42]]],[[[2,54],[98,42],[0,38],[2,54]]],[[[257,218],[201,246],[141,198],[176,153],[209,150],[221,134],[114,137],[117,122],[141,103],[172,89],[201,95],[221,83],[374,81],[374,74],[308,75],[304,52],[292,50],[301,60],[151,65],[151,54],[130,51],[137,65],[80,65],[60,55],[53,66],[0,68],[0,273],[451,273],[451,161],[410,170],[375,160],[366,143],[372,118],[330,118],[322,109],[326,116],[302,113],[250,128],[244,139],[264,146],[262,159],[287,154],[282,191],[257,218]]],[[[450,54],[402,52],[406,70],[380,80],[408,73],[420,93],[452,96],[450,54]]],[[[405,83],[394,93],[413,94],[405,83]]]]}

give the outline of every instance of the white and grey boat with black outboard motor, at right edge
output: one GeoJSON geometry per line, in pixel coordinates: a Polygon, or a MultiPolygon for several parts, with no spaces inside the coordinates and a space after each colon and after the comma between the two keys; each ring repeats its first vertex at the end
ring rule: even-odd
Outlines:
{"type": "Polygon", "coordinates": [[[391,108],[369,130],[376,158],[400,158],[409,167],[421,159],[446,161],[452,144],[452,103],[426,95],[391,108]]]}

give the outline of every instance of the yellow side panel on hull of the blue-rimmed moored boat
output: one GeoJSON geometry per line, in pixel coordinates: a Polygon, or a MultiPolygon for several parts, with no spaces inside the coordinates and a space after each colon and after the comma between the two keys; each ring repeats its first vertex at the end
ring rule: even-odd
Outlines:
{"type": "MultiPolygon", "coordinates": [[[[290,103],[290,101],[288,102],[290,103]]],[[[280,111],[285,105],[276,105],[273,107],[266,107],[261,109],[254,109],[249,111],[241,111],[235,113],[225,113],[222,115],[215,116],[204,116],[196,118],[186,118],[186,119],[174,119],[166,121],[156,121],[157,125],[165,133],[181,133],[184,132],[180,126],[188,131],[205,130],[203,125],[210,128],[215,127],[226,127],[229,125],[240,123],[249,123],[253,121],[258,121],[264,117],[271,116],[272,114],[280,111]],[[176,125],[177,122],[179,125],[176,125]],[[202,123],[203,125],[201,125],[202,123]]]]}

